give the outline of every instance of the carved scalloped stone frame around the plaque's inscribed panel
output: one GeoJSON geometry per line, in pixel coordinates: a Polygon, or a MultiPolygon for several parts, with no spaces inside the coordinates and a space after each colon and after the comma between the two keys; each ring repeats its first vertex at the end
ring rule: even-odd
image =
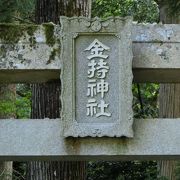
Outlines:
{"type": "MultiPolygon", "coordinates": [[[[61,119],[63,122],[64,137],[133,137],[133,111],[132,111],[132,67],[128,70],[126,82],[129,85],[128,118],[113,123],[82,123],[76,121],[76,84],[75,84],[75,39],[80,35],[113,35],[122,44],[124,38],[128,54],[126,60],[132,64],[132,17],[110,17],[106,20],[100,18],[86,17],[60,17],[60,39],[61,39],[61,119]],[[123,36],[122,36],[123,35],[123,36]],[[125,35],[125,36],[124,36],[125,35]],[[131,107],[130,107],[131,106],[131,107]]],[[[124,51],[126,50],[124,48],[124,51]]],[[[127,50],[126,50],[127,51],[127,50]]]]}

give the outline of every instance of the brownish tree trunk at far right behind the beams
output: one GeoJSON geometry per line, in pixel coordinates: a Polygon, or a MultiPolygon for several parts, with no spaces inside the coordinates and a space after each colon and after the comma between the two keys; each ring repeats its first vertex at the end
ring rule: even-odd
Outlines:
{"type": "MultiPolygon", "coordinates": [[[[171,15],[166,3],[159,3],[160,21],[166,24],[180,23],[180,16],[171,15]]],[[[159,94],[159,115],[162,118],[180,117],[180,84],[161,84],[159,94]]],[[[159,176],[175,180],[176,161],[159,161],[159,176]]]]}

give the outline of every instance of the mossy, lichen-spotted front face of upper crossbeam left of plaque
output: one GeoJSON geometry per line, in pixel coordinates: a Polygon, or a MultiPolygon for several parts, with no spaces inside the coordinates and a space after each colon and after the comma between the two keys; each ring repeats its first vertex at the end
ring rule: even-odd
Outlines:
{"type": "Polygon", "coordinates": [[[58,69],[61,68],[59,63],[61,49],[59,39],[56,36],[56,31],[58,31],[57,26],[52,24],[25,26],[26,28],[24,26],[21,27],[21,25],[14,26],[0,25],[0,30],[5,31],[6,28],[9,29],[6,34],[3,33],[0,35],[1,70],[45,70],[56,69],[57,67],[58,69]],[[32,27],[34,27],[33,30],[32,27]],[[13,34],[13,28],[22,31],[17,31],[16,34],[13,34]],[[17,37],[14,39],[12,37],[13,35],[17,37]]]}

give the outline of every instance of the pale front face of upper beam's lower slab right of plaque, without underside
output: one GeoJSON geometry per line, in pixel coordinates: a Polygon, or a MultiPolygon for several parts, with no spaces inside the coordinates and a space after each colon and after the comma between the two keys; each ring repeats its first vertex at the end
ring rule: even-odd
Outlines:
{"type": "Polygon", "coordinates": [[[180,43],[134,43],[133,55],[133,68],[172,69],[180,67],[180,43]]]}

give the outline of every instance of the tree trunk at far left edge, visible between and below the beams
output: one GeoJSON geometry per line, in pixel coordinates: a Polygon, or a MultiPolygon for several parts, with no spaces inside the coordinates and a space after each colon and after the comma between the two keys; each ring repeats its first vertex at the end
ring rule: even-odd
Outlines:
{"type": "MultiPolygon", "coordinates": [[[[0,118],[15,118],[15,100],[16,86],[1,85],[0,86],[0,118]]],[[[0,180],[12,180],[13,162],[0,162],[0,180]]]]}

